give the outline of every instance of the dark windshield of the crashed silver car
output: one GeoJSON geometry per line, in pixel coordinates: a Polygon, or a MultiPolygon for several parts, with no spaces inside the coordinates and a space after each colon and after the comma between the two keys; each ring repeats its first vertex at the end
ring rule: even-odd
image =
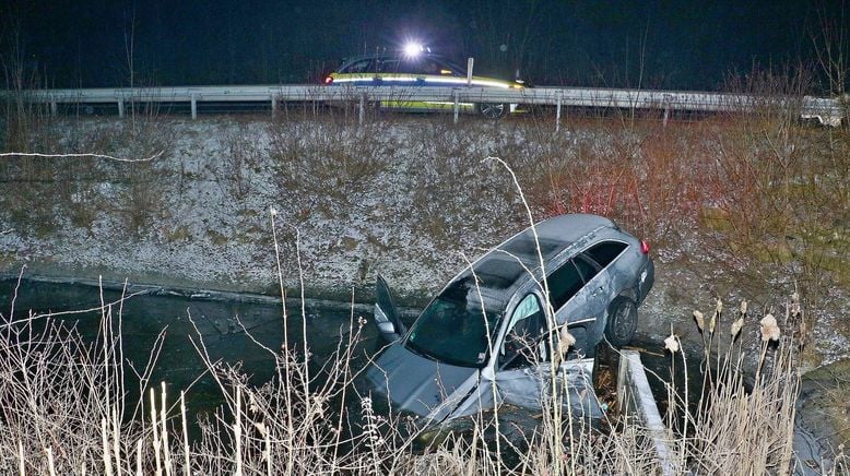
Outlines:
{"type": "Polygon", "coordinates": [[[452,283],[413,324],[408,347],[454,366],[484,366],[489,356],[487,331],[496,334],[501,313],[487,305],[486,297],[483,300],[484,305],[471,279],[452,283]]]}

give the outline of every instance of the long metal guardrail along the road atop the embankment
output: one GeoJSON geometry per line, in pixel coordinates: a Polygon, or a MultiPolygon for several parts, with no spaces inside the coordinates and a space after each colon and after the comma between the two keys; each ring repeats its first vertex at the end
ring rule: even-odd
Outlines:
{"type": "MultiPolygon", "coordinates": [[[[3,93],[0,93],[3,94],[3,93]]],[[[4,93],[9,95],[9,92],[4,93]]],[[[685,91],[618,90],[588,87],[528,87],[504,90],[481,86],[353,86],[353,85],[243,85],[180,86],[88,90],[34,90],[22,93],[25,99],[49,104],[54,112],[59,104],[117,104],[123,116],[128,103],[188,103],[192,118],[198,103],[270,103],[272,111],[281,102],[357,102],[363,116],[364,104],[379,100],[453,103],[456,120],[459,104],[505,103],[550,105],[560,108],[592,107],[621,109],[658,109],[669,111],[751,112],[759,107],[791,108],[802,119],[839,126],[845,108],[838,99],[804,96],[802,98],[755,96],[746,94],[685,91]]]]}

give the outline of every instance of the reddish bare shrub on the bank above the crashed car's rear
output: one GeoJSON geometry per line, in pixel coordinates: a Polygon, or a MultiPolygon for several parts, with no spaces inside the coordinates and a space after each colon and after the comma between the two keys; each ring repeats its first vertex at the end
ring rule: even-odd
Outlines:
{"type": "Polygon", "coordinates": [[[550,190],[531,188],[530,199],[548,202],[543,206],[547,214],[609,216],[663,243],[683,219],[696,221],[703,195],[694,172],[703,158],[701,139],[696,126],[666,128],[652,120],[630,129],[595,123],[592,131],[577,128],[567,136],[544,136],[544,145],[536,145],[535,181],[550,190]]]}

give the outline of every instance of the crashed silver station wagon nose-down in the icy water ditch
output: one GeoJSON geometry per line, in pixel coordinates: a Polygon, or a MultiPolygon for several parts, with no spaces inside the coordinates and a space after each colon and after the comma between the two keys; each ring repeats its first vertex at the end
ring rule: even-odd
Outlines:
{"type": "Polygon", "coordinates": [[[560,401],[598,415],[597,344],[633,338],[637,307],[653,281],[645,241],[583,214],[548,218],[492,249],[451,279],[410,330],[379,276],[375,320],[389,344],[366,369],[373,401],[386,397],[391,412],[415,416],[420,428],[500,403],[538,409],[554,359],[555,378],[567,379],[557,386],[568,389],[560,401]],[[576,342],[562,354],[565,326],[576,342]]]}

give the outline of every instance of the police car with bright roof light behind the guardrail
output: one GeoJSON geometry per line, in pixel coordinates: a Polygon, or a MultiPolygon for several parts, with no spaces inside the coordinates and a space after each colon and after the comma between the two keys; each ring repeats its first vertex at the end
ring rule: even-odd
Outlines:
{"type": "MultiPolygon", "coordinates": [[[[467,70],[450,60],[430,52],[428,48],[412,45],[403,51],[347,58],[323,80],[330,86],[482,86],[497,88],[526,87],[519,81],[485,76],[469,76],[467,70]]],[[[400,95],[398,99],[381,100],[380,107],[405,111],[452,110],[452,102],[415,100],[400,95]]],[[[462,110],[499,119],[517,109],[516,104],[461,103],[462,110]]]]}

